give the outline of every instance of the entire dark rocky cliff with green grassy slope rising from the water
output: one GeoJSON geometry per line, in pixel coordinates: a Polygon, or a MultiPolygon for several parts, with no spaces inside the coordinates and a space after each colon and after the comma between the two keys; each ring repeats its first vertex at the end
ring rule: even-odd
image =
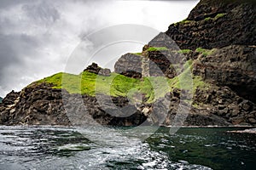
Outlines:
{"type": "Polygon", "coordinates": [[[93,64],[80,76],[67,75],[69,82],[82,77],[77,87],[53,76],[11,92],[0,104],[0,124],[255,126],[255,14],[253,1],[201,0],[142,53],[121,56],[115,73],[93,64]],[[179,85],[188,71],[190,91],[179,85]]]}

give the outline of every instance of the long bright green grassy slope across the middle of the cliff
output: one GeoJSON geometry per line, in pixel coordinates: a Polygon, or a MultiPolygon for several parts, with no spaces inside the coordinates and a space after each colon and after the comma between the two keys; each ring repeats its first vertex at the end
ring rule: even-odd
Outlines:
{"type": "Polygon", "coordinates": [[[137,102],[143,94],[152,103],[155,99],[164,97],[166,93],[172,92],[174,88],[190,90],[194,94],[196,88],[208,88],[209,85],[203,82],[201,77],[193,77],[191,74],[192,61],[184,65],[184,71],[172,79],[166,77],[143,77],[142,80],[125,77],[117,73],[111,73],[110,77],[97,76],[94,73],[84,71],[79,75],[68,73],[57,73],[46,77],[38,82],[48,82],[54,85],[53,88],[64,88],[70,94],[107,94],[111,96],[128,97],[131,101],[137,102]]]}

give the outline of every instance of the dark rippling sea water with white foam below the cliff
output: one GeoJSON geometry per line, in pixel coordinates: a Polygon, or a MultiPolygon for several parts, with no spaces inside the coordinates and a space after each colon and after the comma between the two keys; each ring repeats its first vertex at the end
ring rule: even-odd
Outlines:
{"type": "Polygon", "coordinates": [[[0,127],[0,169],[255,169],[242,127],[0,127]],[[152,129],[157,130],[152,133],[152,129]],[[149,130],[148,130],[149,129],[149,130]]]}

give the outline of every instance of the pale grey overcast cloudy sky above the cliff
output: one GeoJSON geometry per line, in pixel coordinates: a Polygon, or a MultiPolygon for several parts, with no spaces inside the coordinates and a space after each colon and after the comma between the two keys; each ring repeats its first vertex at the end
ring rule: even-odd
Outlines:
{"type": "MultiPolygon", "coordinates": [[[[147,41],[158,32],[166,31],[170,24],[185,19],[196,3],[196,0],[1,0],[0,96],[4,97],[12,89],[19,91],[35,80],[65,71],[70,56],[79,51],[81,43],[86,44],[86,41],[81,41],[87,35],[95,36],[95,32],[108,26],[136,24],[142,26],[138,30],[148,26],[148,36],[143,39],[147,41]]],[[[90,60],[113,67],[119,55],[128,51],[141,51],[143,41],[122,42],[102,48],[96,52],[96,56],[104,56],[90,60]],[[112,62],[106,63],[106,59],[112,62]]],[[[80,57],[80,60],[86,59],[80,57]]],[[[87,59],[84,64],[90,60],[87,59]]],[[[77,67],[77,73],[83,68],[77,67]]]]}

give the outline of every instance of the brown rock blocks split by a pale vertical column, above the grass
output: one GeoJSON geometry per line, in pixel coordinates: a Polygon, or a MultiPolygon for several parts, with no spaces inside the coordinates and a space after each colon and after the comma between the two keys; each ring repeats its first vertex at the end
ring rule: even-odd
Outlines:
{"type": "MultiPolygon", "coordinates": [[[[161,38],[164,42],[166,39],[161,38]]],[[[168,40],[167,40],[168,41],[168,40]]],[[[160,40],[157,40],[160,44],[160,40]]],[[[177,69],[183,71],[183,54],[171,50],[148,51],[145,46],[141,55],[125,54],[114,65],[114,71],[126,77],[169,77],[177,76],[177,69]],[[175,65],[174,67],[172,65],[175,65]]],[[[173,46],[175,47],[175,46],[173,46]]]]}

